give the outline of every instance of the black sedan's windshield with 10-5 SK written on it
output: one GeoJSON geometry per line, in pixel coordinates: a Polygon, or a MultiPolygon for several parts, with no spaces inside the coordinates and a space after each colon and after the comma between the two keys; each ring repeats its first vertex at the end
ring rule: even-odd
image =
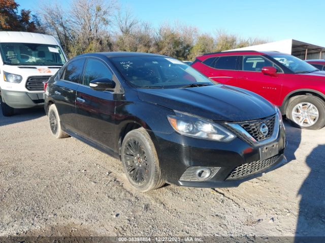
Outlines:
{"type": "Polygon", "coordinates": [[[111,59],[126,81],[139,88],[180,88],[214,85],[210,79],[185,63],[155,56],[115,57],[111,59]]]}

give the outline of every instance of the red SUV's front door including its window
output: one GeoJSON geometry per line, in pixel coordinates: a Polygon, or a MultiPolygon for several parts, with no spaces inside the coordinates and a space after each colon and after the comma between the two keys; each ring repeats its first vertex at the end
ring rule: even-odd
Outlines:
{"type": "Polygon", "coordinates": [[[282,69],[261,55],[247,55],[240,59],[237,87],[252,91],[263,96],[273,104],[278,105],[282,89],[282,69]],[[278,71],[276,75],[266,75],[262,67],[273,66],[278,71]]]}

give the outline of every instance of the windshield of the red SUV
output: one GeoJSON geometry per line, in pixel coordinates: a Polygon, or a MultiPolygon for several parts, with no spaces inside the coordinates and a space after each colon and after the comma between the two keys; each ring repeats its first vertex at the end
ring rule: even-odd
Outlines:
{"type": "Polygon", "coordinates": [[[295,73],[309,73],[318,71],[318,69],[309,63],[291,55],[279,54],[272,55],[272,57],[295,73]]]}

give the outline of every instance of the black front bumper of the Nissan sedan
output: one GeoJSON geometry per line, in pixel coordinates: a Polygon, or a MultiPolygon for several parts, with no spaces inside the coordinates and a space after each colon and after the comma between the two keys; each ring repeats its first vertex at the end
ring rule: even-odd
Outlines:
{"type": "Polygon", "coordinates": [[[273,159],[272,163],[255,172],[253,171],[251,174],[239,176],[238,178],[230,178],[236,168],[243,167],[242,165],[247,165],[246,167],[249,168],[250,165],[255,165],[256,162],[259,163],[258,146],[252,146],[240,138],[236,138],[229,143],[223,143],[185,137],[176,132],[172,134],[154,133],[153,136],[164,179],[170,184],[180,186],[235,187],[244,181],[262,176],[264,173],[272,171],[287,162],[283,154],[286,145],[283,128],[280,128],[277,139],[271,142],[278,142],[279,147],[278,155],[271,158],[273,159]],[[184,172],[191,167],[219,167],[219,169],[207,180],[182,180],[181,177],[184,172]]]}

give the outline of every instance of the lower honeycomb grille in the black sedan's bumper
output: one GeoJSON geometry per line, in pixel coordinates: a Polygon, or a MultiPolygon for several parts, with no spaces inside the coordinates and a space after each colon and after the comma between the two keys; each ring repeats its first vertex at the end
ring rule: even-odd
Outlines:
{"type": "Polygon", "coordinates": [[[260,173],[262,171],[267,170],[272,165],[276,164],[280,155],[275,155],[271,158],[265,160],[257,160],[251,163],[243,164],[237,166],[227,177],[226,180],[238,180],[243,179],[248,176],[252,176],[254,174],[260,173]]]}

